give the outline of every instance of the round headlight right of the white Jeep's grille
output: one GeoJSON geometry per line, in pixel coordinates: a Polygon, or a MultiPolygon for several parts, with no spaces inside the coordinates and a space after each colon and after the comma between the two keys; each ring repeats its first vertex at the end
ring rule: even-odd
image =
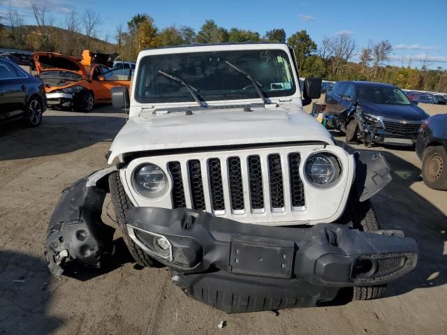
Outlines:
{"type": "Polygon", "coordinates": [[[327,152],[314,154],[307,158],[305,176],[312,186],[329,188],[339,179],[342,172],[338,159],[327,152]]]}

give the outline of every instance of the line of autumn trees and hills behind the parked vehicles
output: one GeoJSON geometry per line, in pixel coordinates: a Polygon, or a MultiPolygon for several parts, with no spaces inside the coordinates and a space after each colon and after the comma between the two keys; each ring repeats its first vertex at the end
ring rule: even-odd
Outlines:
{"type": "Polygon", "coordinates": [[[142,13],[134,15],[126,25],[118,24],[115,32],[97,38],[102,20],[99,13],[85,10],[78,15],[68,13],[64,22],[55,27],[54,17],[47,8],[32,3],[36,26],[25,26],[15,10],[9,10],[3,22],[8,29],[0,30],[3,47],[29,48],[79,55],[84,49],[99,52],[117,52],[121,59],[132,61],[138,52],[147,48],[192,45],[205,43],[279,42],[290,45],[301,77],[322,77],[326,80],[372,80],[397,84],[402,89],[447,92],[447,70],[430,69],[430,62],[413,66],[411,60],[402,59],[401,66],[391,66],[393,46],[388,40],[369,41],[358,47],[350,34],[323,38],[317,45],[305,29],[286,36],[284,29],[272,29],[261,35],[257,31],[219,27],[214,20],[206,20],[196,31],[182,25],[163,29],[156,27],[154,19],[142,13]],[[114,38],[115,43],[109,40],[114,38]]]}

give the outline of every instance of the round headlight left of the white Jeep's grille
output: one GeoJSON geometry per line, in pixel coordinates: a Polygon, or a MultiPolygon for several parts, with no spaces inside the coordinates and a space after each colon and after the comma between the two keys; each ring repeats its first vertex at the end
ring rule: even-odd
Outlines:
{"type": "Polygon", "coordinates": [[[145,198],[161,198],[168,191],[168,177],[158,165],[140,165],[133,177],[136,191],[145,198]]]}

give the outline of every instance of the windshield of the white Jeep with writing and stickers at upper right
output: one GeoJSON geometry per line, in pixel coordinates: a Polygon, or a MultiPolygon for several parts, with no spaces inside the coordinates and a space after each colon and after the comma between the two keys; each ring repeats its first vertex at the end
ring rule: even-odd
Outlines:
{"type": "Polygon", "coordinates": [[[135,100],[140,103],[194,101],[184,85],[168,73],[196,88],[205,101],[259,98],[253,82],[237,72],[237,66],[261,84],[268,97],[291,96],[296,87],[288,55],[283,50],[232,50],[162,54],[141,59],[135,84],[135,100]]]}

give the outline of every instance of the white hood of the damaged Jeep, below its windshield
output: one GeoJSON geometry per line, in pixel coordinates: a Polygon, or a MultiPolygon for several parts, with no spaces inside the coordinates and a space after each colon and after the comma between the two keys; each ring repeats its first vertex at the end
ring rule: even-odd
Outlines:
{"type": "Polygon", "coordinates": [[[200,110],[192,115],[147,113],[130,119],[119,131],[108,163],[121,154],[138,151],[304,141],[334,144],[314,117],[281,107],[254,108],[252,112],[242,108],[200,110]]]}

